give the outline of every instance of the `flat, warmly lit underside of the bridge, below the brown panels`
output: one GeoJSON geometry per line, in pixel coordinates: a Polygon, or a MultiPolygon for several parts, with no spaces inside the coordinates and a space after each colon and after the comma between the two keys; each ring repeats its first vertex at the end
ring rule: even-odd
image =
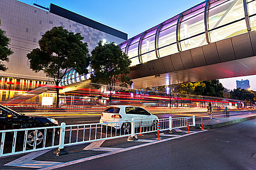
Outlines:
{"type": "Polygon", "coordinates": [[[187,82],[223,79],[256,74],[256,56],[210,66],[179,70],[173,73],[163,73],[160,76],[148,76],[134,79],[133,88],[143,88],[160,85],[174,85],[187,82]]]}

